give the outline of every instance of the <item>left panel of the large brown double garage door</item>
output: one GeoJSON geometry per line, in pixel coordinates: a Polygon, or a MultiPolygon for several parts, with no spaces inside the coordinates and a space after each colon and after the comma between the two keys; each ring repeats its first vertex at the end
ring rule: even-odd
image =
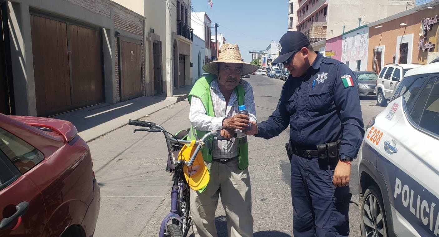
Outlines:
{"type": "Polygon", "coordinates": [[[35,15],[30,21],[37,115],[66,111],[72,105],[67,25],[35,15]]]}

